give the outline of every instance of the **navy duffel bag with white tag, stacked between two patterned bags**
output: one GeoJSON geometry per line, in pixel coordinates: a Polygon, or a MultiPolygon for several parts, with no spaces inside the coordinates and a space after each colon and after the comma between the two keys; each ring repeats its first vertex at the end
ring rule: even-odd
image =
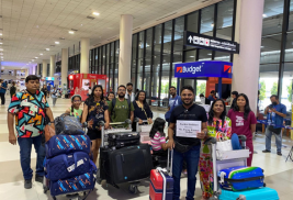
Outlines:
{"type": "Polygon", "coordinates": [[[55,156],[46,159],[45,166],[46,178],[49,180],[66,179],[95,170],[95,165],[84,152],[55,156]]]}

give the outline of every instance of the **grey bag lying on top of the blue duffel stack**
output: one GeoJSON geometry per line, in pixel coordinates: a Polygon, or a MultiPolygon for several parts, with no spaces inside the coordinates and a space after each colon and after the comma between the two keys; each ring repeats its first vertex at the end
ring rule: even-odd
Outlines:
{"type": "Polygon", "coordinates": [[[61,114],[54,120],[56,135],[84,135],[79,120],[75,116],[61,114]]]}

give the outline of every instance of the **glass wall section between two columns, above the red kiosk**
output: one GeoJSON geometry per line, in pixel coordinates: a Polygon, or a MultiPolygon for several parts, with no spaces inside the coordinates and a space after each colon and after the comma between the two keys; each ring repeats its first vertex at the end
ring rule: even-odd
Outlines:
{"type": "Polygon", "coordinates": [[[90,49],[90,74],[106,75],[106,91],[117,89],[119,41],[90,49]]]}

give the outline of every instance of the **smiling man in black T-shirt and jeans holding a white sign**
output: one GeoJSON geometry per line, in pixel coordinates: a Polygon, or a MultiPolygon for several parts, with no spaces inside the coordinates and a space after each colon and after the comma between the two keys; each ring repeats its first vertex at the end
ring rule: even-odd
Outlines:
{"type": "Polygon", "coordinates": [[[201,140],[206,136],[206,113],[204,108],[194,104],[194,90],[191,86],[181,89],[182,105],[173,109],[168,129],[168,147],[173,149],[172,176],[173,200],[180,198],[180,177],[183,160],[188,169],[187,200],[193,200],[195,192],[196,173],[200,159],[201,140]]]}

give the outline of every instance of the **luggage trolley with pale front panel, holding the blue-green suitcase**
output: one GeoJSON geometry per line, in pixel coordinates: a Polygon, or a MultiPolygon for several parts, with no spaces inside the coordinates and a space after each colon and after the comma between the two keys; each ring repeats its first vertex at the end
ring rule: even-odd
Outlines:
{"type": "MultiPolygon", "coordinates": [[[[214,192],[213,197],[210,200],[218,200],[221,199],[222,190],[219,189],[218,181],[218,171],[228,167],[236,166],[247,166],[247,158],[249,157],[249,149],[246,149],[246,136],[238,135],[241,141],[243,149],[237,151],[226,151],[226,152],[216,152],[216,138],[211,137],[205,142],[205,144],[212,145],[212,158],[213,158],[213,173],[214,173],[214,192]]],[[[224,179],[224,177],[221,177],[224,179]]],[[[245,196],[239,196],[237,200],[246,200],[245,196]]]]}

